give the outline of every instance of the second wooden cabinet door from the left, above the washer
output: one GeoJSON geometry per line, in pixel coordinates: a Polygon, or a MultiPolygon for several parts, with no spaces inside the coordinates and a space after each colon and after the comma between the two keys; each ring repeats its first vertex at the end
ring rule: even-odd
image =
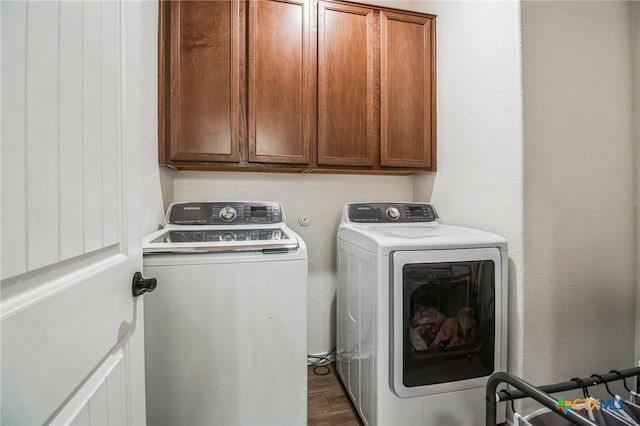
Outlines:
{"type": "Polygon", "coordinates": [[[310,161],[316,96],[309,3],[249,2],[249,161],[310,161]]]}

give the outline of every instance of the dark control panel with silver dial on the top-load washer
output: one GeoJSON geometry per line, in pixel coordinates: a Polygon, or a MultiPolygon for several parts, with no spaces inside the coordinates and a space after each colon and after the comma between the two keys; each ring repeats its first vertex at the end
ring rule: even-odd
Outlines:
{"type": "Polygon", "coordinates": [[[260,225],[284,223],[280,203],[188,202],[174,203],[167,212],[173,225],[260,225]]]}

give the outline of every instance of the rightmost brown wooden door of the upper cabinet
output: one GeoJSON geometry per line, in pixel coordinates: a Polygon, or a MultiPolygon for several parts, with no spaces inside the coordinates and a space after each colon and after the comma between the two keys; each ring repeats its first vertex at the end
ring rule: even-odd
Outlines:
{"type": "Polygon", "coordinates": [[[435,21],[380,12],[380,164],[435,169],[435,21]]]}

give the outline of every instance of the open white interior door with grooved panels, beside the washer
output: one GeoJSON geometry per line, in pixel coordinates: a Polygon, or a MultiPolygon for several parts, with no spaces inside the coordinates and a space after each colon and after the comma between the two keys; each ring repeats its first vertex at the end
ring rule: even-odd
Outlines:
{"type": "Polygon", "coordinates": [[[0,423],[144,424],[140,4],[0,13],[0,423]]]}

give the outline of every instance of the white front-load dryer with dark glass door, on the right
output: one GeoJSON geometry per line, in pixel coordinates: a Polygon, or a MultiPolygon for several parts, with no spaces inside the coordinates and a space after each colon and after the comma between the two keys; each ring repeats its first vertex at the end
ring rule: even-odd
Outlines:
{"type": "Polygon", "coordinates": [[[353,203],[337,262],[338,374],[364,424],[483,425],[507,361],[505,239],[426,203],[353,203]]]}

